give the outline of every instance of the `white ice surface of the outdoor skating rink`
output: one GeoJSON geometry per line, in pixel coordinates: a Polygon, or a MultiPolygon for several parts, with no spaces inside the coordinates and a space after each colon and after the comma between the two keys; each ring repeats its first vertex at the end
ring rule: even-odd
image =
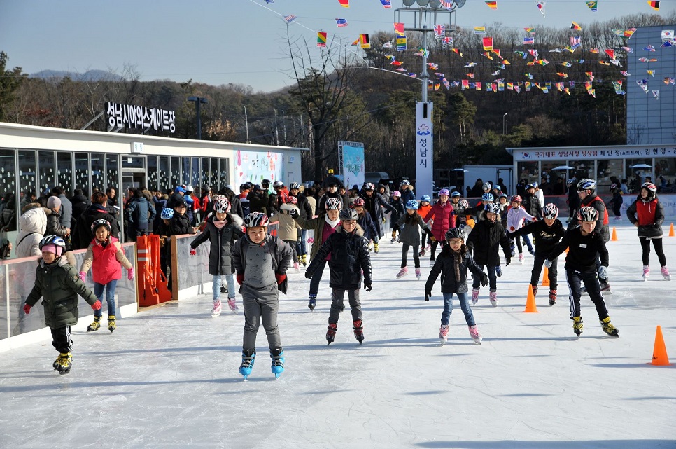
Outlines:
{"type": "MultiPolygon", "coordinates": [[[[286,371],[270,372],[262,327],[253,373],[238,373],[244,317],[211,318],[211,292],[118,320],[111,335],[73,332],[73,369],[52,371],[50,340],[2,353],[0,447],[9,448],[675,448],[676,237],[666,237],[674,280],[641,251],[626,219],[609,242],[619,338],[605,336],[588,296],[584,333],[569,319],[560,259],[558,304],[540,287],[538,313],[524,313],[533,257],[503,265],[498,307],[481,290],[475,345],[457,299],[448,343],[439,345],[439,284],[429,303],[423,279],[395,280],[400,244],[372,254],[374,289],[361,291],[365,342],[349,310],[335,343],[325,330],[328,268],[314,312],[309,281],[290,275],[279,326],[286,371]],[[671,366],[652,366],[661,325],[671,366]]],[[[611,223],[611,226],[614,223],[611,223]]],[[[240,303],[239,296],[237,297],[240,303]]],[[[105,305],[104,305],[105,308],[105,305]]],[[[227,309],[227,308],[226,308],[227,309]]],[[[90,310],[80,313],[90,314],[90,310]]],[[[80,318],[79,328],[90,322],[80,318]]]]}

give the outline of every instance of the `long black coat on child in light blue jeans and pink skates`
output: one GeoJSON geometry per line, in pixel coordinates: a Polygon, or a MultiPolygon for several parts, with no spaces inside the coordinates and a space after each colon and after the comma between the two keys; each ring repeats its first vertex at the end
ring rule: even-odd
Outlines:
{"type": "Polygon", "coordinates": [[[212,276],[232,275],[232,245],[235,240],[244,237],[241,228],[234,223],[228,214],[227,225],[218,229],[213,224],[214,216],[206,219],[206,226],[201,234],[190,243],[191,248],[197,248],[209,240],[209,274],[212,276]]]}

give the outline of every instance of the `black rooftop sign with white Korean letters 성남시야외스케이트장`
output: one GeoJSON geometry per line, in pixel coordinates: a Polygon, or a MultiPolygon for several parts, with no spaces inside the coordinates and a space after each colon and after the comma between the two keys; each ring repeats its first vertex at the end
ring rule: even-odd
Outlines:
{"type": "Polygon", "coordinates": [[[108,127],[176,132],[176,112],[135,104],[106,103],[108,127]]]}

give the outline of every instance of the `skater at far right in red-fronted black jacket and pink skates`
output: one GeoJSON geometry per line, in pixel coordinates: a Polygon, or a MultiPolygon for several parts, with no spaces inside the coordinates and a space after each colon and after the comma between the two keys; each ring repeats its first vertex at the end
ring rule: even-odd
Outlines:
{"type": "Polygon", "coordinates": [[[650,242],[657,253],[662,277],[671,280],[667,259],[662,249],[662,222],[664,221],[664,208],[657,199],[657,187],[652,182],[641,186],[638,198],[627,209],[627,218],[631,224],[638,228],[638,241],[643,249],[643,280],[647,281],[650,275],[648,256],[650,255],[650,242]]]}

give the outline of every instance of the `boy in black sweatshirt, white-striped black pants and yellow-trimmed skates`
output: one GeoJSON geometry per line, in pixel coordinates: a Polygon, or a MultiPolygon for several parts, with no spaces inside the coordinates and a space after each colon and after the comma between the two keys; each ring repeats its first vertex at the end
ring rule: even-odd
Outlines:
{"type": "Polygon", "coordinates": [[[572,319],[572,330],[579,337],[582,333],[582,316],[580,315],[580,284],[584,284],[591,301],[596,306],[596,313],[601,322],[601,327],[609,336],[617,337],[618,331],[610,323],[608,310],[603,301],[601,286],[598,278],[607,278],[608,272],[608,250],[605,247],[604,238],[598,233],[596,228],[598,220],[598,210],[591,206],[580,207],[577,212],[577,221],[581,226],[568,230],[561,242],[551,250],[544,266],[551,267],[553,261],[568,248],[568,254],[565,256],[565,278],[568,281],[570,289],[570,319],[572,319]],[[596,274],[596,258],[600,257],[601,266],[596,274]]]}

